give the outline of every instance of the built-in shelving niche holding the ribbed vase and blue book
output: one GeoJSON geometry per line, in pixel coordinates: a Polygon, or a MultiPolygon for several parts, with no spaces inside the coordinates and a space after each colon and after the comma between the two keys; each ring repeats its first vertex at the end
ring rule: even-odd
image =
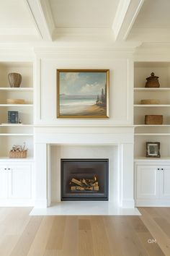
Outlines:
{"type": "Polygon", "coordinates": [[[9,158],[13,145],[26,142],[28,158],[33,158],[34,148],[34,88],[33,65],[28,62],[0,62],[0,158],[9,158]],[[8,74],[22,74],[19,88],[10,88],[8,74]],[[7,99],[24,99],[24,104],[8,104],[7,99]],[[8,124],[8,111],[18,111],[22,124],[8,124]]]}

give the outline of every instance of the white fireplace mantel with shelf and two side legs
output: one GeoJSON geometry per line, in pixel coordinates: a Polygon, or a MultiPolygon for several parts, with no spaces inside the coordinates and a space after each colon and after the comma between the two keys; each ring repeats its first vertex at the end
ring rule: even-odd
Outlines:
{"type": "Polygon", "coordinates": [[[50,145],[116,145],[117,202],[134,208],[133,127],[35,127],[35,208],[50,205],[50,145]]]}

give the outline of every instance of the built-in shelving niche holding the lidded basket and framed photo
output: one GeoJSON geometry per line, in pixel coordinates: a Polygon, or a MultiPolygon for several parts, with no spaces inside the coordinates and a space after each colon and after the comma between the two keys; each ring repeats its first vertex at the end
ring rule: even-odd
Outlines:
{"type": "Polygon", "coordinates": [[[170,159],[170,62],[138,61],[134,64],[135,158],[145,158],[146,142],[161,142],[161,158],[170,159]],[[146,77],[154,72],[160,88],[145,88],[146,77]],[[143,99],[158,99],[159,104],[143,105],[143,99]],[[145,124],[145,115],[163,115],[161,125],[145,124]]]}

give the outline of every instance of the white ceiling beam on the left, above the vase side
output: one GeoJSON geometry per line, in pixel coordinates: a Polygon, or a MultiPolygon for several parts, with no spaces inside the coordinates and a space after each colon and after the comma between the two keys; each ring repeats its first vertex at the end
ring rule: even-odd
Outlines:
{"type": "Polygon", "coordinates": [[[25,0],[42,40],[52,40],[55,28],[50,5],[45,0],[25,0]]]}

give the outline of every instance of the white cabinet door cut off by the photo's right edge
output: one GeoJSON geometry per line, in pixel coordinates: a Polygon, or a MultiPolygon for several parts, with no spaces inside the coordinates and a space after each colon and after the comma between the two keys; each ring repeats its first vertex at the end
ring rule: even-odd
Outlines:
{"type": "Polygon", "coordinates": [[[170,199],[170,166],[161,167],[160,197],[170,199]]]}

